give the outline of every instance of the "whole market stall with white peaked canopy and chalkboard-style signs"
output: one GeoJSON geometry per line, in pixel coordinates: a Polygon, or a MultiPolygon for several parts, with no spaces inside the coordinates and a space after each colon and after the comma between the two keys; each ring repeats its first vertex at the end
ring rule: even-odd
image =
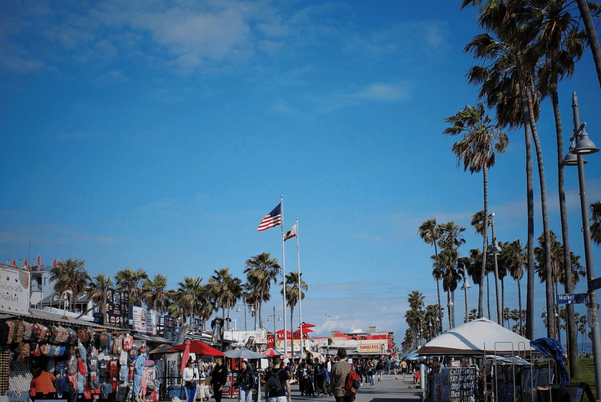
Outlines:
{"type": "Polygon", "coordinates": [[[497,402],[534,401],[537,386],[554,378],[551,362],[529,340],[486,318],[442,333],[415,355],[427,358],[421,366],[427,401],[487,400],[489,395],[497,402]]]}

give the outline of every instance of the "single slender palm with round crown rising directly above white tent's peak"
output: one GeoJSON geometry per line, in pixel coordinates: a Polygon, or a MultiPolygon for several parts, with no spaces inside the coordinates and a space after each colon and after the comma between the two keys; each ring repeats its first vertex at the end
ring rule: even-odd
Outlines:
{"type": "MultiPolygon", "coordinates": [[[[484,188],[484,227],[488,227],[488,169],[495,165],[495,152],[502,154],[507,148],[509,139],[507,134],[501,130],[502,126],[493,123],[490,115],[484,111],[484,105],[478,103],[475,106],[465,106],[456,115],[446,117],[445,122],[450,124],[442,132],[448,136],[462,135],[460,141],[453,144],[453,153],[457,157],[457,166],[463,162],[463,171],[471,174],[482,171],[484,188]]],[[[486,245],[487,231],[483,240],[483,256],[481,266],[481,279],[486,274],[486,245]]],[[[483,282],[483,281],[480,281],[483,282]]],[[[478,318],[482,317],[483,288],[478,287],[478,318]]]]}

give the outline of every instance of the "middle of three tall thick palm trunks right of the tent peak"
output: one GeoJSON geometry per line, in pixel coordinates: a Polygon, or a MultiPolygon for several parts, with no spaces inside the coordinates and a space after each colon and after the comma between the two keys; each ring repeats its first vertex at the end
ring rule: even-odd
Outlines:
{"type": "MultiPolygon", "coordinates": [[[[532,97],[528,96],[528,116],[530,118],[530,129],[534,140],[534,150],[538,165],[538,181],[540,181],[540,204],[543,210],[543,234],[545,236],[545,296],[547,299],[547,311],[553,311],[553,272],[551,269],[551,238],[549,237],[549,216],[547,214],[547,186],[545,182],[545,166],[543,166],[543,151],[538,141],[534,112],[532,111],[532,97]]],[[[550,320],[547,325],[547,337],[552,338],[555,333],[555,320],[550,320]]]]}

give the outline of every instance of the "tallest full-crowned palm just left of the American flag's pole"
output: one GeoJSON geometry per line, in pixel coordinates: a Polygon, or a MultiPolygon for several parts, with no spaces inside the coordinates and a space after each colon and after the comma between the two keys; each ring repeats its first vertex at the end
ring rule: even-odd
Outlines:
{"type": "Polygon", "coordinates": [[[281,267],[278,264],[277,258],[271,258],[271,254],[268,252],[262,252],[261,254],[254,255],[248,258],[244,262],[246,269],[246,279],[249,284],[259,294],[258,299],[258,319],[259,325],[263,328],[263,320],[261,320],[261,309],[263,308],[263,302],[267,302],[270,298],[271,282],[276,283],[276,276],[279,273],[281,267]]]}

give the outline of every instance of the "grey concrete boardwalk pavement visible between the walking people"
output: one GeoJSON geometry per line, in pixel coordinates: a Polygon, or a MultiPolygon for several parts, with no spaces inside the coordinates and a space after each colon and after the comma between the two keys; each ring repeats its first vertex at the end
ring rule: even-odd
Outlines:
{"type": "MultiPolygon", "coordinates": [[[[413,378],[413,377],[412,377],[413,378]]],[[[413,381],[407,375],[403,380],[403,375],[398,374],[398,380],[394,379],[394,374],[382,376],[382,381],[374,383],[376,386],[370,387],[368,383],[363,383],[355,402],[400,402],[400,401],[419,401],[421,400],[421,389],[413,388],[413,381]],[[411,388],[409,389],[409,386],[411,388]]],[[[334,397],[301,397],[298,385],[291,386],[292,400],[294,402],[332,402],[334,397]]]]}

